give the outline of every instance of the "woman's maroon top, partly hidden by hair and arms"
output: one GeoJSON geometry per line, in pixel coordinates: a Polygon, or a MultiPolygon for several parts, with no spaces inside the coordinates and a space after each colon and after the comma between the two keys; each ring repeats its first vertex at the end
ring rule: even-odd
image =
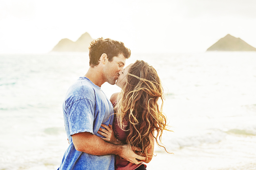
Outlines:
{"type": "MultiPolygon", "coordinates": [[[[113,103],[113,106],[115,106],[115,104],[116,104],[116,102],[113,103]]],[[[114,131],[116,139],[121,140],[124,143],[126,143],[127,136],[125,135],[125,131],[119,127],[116,117],[114,117],[114,121],[113,121],[113,131],[114,131]]],[[[140,164],[136,165],[136,164],[133,164],[133,163],[121,158],[119,155],[115,155],[115,169],[133,170],[142,164],[144,164],[144,163],[140,163],[140,164]]],[[[147,165],[145,165],[145,164],[144,164],[144,166],[147,167],[147,165]]]]}

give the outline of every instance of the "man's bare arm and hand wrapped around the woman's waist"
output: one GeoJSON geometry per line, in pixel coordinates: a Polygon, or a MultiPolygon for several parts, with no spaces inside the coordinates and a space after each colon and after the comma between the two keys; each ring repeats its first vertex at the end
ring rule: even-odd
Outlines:
{"type": "MultiPolygon", "coordinates": [[[[127,145],[115,145],[105,142],[103,139],[90,132],[73,134],[72,140],[77,151],[93,155],[119,155],[121,158],[134,164],[141,163],[141,161],[137,161],[136,159],[145,160],[144,156],[135,154],[127,145]]],[[[132,149],[136,150],[138,148],[132,149]]]]}

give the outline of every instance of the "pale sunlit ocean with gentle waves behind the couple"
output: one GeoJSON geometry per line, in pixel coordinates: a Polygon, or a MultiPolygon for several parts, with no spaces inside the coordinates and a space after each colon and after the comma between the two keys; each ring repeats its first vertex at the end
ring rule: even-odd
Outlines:
{"type": "MultiPolygon", "coordinates": [[[[256,53],[132,53],[162,80],[169,129],[153,169],[256,169],[256,53]]],[[[0,170],[57,169],[68,144],[62,102],[88,53],[0,54],[0,170]]],[[[104,83],[110,97],[120,91],[104,83]]]]}

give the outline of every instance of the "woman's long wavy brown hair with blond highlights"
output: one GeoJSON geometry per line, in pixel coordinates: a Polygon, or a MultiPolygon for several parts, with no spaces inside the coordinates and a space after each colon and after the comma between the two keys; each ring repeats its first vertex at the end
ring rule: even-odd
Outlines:
{"type": "Polygon", "coordinates": [[[146,156],[148,160],[150,148],[154,144],[150,136],[154,136],[156,131],[156,143],[166,151],[161,142],[163,130],[168,130],[166,116],[162,113],[163,87],[156,70],[147,62],[137,60],[129,68],[126,83],[118,98],[116,117],[120,128],[127,135],[127,145],[141,148],[140,155],[146,156]]]}

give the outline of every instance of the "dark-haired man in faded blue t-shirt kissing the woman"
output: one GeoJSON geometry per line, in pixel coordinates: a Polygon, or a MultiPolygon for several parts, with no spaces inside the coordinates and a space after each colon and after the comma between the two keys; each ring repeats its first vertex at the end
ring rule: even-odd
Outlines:
{"type": "MultiPolygon", "coordinates": [[[[69,147],[59,170],[114,169],[114,155],[138,164],[145,157],[136,155],[127,145],[115,145],[102,140],[101,124],[113,123],[113,106],[101,90],[108,82],[115,84],[119,71],[131,51],[122,42],[98,38],[89,47],[90,68],[68,89],[63,103],[63,117],[69,147]]],[[[132,148],[137,149],[137,148],[132,148]]]]}

